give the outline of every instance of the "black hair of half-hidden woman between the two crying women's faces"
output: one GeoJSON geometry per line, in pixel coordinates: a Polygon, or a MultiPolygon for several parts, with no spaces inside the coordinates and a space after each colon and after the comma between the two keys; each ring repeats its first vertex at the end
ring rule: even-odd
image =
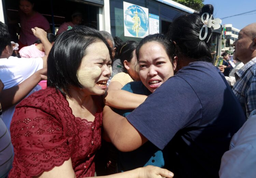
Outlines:
{"type": "Polygon", "coordinates": [[[137,48],[139,42],[135,40],[128,40],[122,44],[122,47],[120,49],[120,60],[122,64],[124,64],[124,61],[127,60],[128,62],[131,61],[133,58],[133,51],[137,48]]]}

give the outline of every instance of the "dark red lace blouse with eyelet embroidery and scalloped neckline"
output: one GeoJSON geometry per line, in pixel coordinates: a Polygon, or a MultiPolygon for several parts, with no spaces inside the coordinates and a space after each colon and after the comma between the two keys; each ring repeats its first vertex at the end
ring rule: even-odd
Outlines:
{"type": "Polygon", "coordinates": [[[9,177],[37,176],[69,158],[76,177],[94,176],[95,152],[101,145],[102,105],[98,108],[90,122],[75,118],[66,98],[54,88],[24,99],[11,122],[15,157],[9,177]]]}

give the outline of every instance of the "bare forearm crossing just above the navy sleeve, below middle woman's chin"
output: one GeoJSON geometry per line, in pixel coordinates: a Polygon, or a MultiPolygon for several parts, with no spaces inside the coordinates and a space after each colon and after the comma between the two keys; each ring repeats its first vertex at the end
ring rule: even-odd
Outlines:
{"type": "Polygon", "coordinates": [[[125,90],[108,90],[105,97],[105,105],[117,109],[135,109],[146,98],[146,95],[134,94],[125,90]]]}

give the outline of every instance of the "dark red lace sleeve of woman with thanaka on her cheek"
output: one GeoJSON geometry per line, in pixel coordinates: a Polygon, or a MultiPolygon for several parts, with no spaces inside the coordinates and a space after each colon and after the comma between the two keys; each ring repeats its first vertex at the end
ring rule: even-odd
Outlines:
{"type": "Polygon", "coordinates": [[[62,123],[41,109],[17,107],[10,128],[17,162],[14,167],[37,176],[67,161],[68,139],[62,128],[62,123]]]}

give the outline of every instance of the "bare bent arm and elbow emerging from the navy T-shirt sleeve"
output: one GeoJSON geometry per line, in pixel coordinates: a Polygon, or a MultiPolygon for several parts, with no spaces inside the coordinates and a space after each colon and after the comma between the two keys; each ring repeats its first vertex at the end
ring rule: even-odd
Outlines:
{"type": "Polygon", "coordinates": [[[133,151],[147,141],[125,117],[113,112],[109,106],[103,109],[103,128],[115,147],[123,152],[133,151]]]}

